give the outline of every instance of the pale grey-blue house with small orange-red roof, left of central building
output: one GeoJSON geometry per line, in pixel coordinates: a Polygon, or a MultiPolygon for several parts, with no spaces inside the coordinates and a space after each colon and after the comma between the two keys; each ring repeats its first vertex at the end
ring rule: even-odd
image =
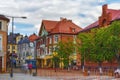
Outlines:
{"type": "Polygon", "coordinates": [[[25,36],[18,42],[18,60],[20,63],[36,59],[36,40],[38,36],[33,33],[25,36]]]}

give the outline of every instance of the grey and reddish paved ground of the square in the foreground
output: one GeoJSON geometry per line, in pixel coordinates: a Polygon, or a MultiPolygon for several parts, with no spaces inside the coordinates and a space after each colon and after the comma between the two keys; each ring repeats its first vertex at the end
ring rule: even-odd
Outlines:
{"type": "MultiPolygon", "coordinates": [[[[35,72],[35,70],[33,70],[35,72]]],[[[0,80],[120,80],[107,75],[84,76],[80,71],[67,71],[53,69],[38,69],[37,76],[23,73],[20,69],[14,69],[13,78],[10,74],[0,74],[0,80]]]]}

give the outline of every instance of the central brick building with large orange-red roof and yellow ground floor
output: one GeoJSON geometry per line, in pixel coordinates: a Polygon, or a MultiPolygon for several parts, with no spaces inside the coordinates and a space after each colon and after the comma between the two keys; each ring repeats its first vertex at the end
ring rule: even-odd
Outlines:
{"type": "Polygon", "coordinates": [[[68,40],[75,42],[76,33],[80,30],[79,26],[66,18],[61,18],[60,21],[43,20],[39,30],[40,38],[37,40],[38,67],[52,67],[51,54],[54,53],[56,44],[68,40]]]}

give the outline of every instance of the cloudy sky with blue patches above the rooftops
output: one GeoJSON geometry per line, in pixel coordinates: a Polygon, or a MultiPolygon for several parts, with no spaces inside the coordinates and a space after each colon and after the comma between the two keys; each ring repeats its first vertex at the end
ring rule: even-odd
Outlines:
{"type": "Polygon", "coordinates": [[[98,20],[104,4],[120,9],[120,0],[0,0],[0,14],[9,16],[8,32],[12,31],[11,17],[18,17],[13,21],[14,33],[38,35],[42,20],[59,21],[60,17],[85,28],[98,20]]]}

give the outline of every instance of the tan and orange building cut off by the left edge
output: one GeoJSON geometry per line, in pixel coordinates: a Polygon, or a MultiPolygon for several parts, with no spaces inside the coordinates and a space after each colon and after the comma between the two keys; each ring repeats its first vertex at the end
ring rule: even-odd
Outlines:
{"type": "Polygon", "coordinates": [[[6,72],[8,23],[9,19],[0,15],[0,73],[6,72]]]}

